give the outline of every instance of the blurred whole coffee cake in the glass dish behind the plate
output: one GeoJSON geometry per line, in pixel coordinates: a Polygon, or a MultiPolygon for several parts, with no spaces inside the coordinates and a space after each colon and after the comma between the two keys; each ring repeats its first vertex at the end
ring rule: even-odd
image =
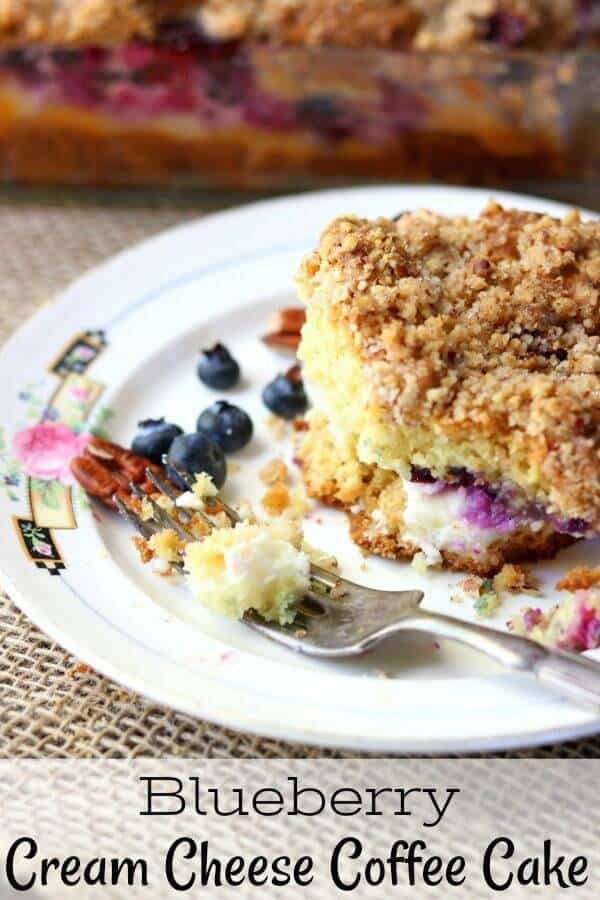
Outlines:
{"type": "Polygon", "coordinates": [[[594,175],[597,12],[595,0],[2,0],[0,172],[236,186],[594,175]]]}

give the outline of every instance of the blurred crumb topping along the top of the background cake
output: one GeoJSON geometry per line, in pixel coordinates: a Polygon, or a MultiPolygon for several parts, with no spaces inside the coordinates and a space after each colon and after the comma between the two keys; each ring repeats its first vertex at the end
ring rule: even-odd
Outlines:
{"type": "Polygon", "coordinates": [[[361,49],[549,49],[598,31],[580,0],[0,0],[0,40],[114,43],[179,15],[221,40],[361,49]]]}

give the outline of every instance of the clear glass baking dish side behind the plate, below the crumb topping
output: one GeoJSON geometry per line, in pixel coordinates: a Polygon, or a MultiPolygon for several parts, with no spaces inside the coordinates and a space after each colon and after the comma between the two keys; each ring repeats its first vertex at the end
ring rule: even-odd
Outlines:
{"type": "Polygon", "coordinates": [[[305,49],[169,33],[0,53],[25,183],[282,187],[597,177],[600,51],[305,49]]]}

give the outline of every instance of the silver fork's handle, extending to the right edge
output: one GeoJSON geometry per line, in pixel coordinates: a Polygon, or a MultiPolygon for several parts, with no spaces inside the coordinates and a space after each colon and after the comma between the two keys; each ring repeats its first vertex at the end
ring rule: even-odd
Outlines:
{"type": "Polygon", "coordinates": [[[577,703],[600,706],[600,665],[579,653],[553,650],[529,638],[428,610],[419,611],[414,627],[466,644],[513,671],[531,672],[541,684],[577,703]]]}

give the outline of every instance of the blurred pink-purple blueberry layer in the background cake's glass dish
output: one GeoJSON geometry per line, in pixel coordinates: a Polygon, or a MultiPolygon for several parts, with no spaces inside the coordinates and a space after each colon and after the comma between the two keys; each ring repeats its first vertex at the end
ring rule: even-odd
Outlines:
{"type": "MultiPolygon", "coordinates": [[[[267,51],[265,51],[267,52],[267,51]]],[[[274,66],[278,53],[273,49],[274,66]]],[[[295,97],[264,83],[262,63],[239,41],[218,41],[194,22],[166,22],[152,42],[112,48],[44,48],[0,53],[0,73],[35,92],[36,101],[68,104],[127,121],[186,114],[203,127],[244,123],[272,131],[308,131],[327,141],[380,143],[424,116],[417,93],[388,78],[368,102],[340,90],[295,97]]],[[[274,79],[276,81],[276,79],[274,79]]]]}

